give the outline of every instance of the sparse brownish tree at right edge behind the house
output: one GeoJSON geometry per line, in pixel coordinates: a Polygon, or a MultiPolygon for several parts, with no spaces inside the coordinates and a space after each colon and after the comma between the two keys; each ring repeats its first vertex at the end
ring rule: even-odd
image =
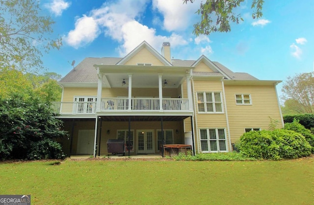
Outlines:
{"type": "Polygon", "coordinates": [[[314,72],[288,77],[282,92],[285,105],[294,106],[299,113],[314,113],[314,72]]]}

